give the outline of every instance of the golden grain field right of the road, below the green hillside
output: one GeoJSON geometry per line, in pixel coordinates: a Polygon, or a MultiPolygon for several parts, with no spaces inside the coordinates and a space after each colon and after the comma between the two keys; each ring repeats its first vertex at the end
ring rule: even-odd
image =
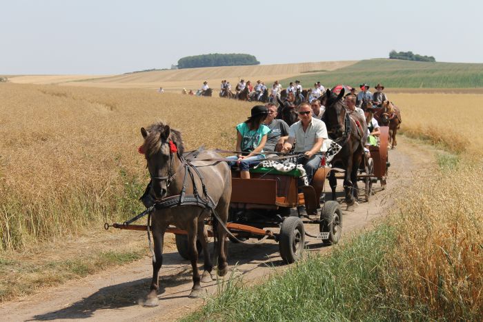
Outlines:
{"type": "Polygon", "coordinates": [[[465,157],[483,154],[483,94],[391,94],[402,110],[401,129],[465,157]]]}

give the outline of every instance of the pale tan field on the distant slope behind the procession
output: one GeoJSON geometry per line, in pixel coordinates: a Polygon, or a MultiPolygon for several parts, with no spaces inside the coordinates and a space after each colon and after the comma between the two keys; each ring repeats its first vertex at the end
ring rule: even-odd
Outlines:
{"type": "Polygon", "coordinates": [[[285,63],[277,65],[257,66],[224,66],[208,68],[188,68],[183,70],[159,70],[152,72],[137,72],[133,74],[121,74],[117,76],[99,77],[94,76],[55,76],[55,75],[32,75],[9,78],[14,83],[50,84],[62,83],[63,85],[88,86],[96,88],[148,88],[154,89],[162,86],[165,90],[181,89],[197,90],[201,88],[203,81],[207,80],[212,88],[219,89],[221,79],[227,79],[233,84],[239,78],[251,80],[261,79],[267,83],[277,79],[296,77],[311,70],[336,70],[350,66],[357,61],[320,61],[316,63],[285,63]],[[82,81],[85,79],[84,81],[82,81]]]}

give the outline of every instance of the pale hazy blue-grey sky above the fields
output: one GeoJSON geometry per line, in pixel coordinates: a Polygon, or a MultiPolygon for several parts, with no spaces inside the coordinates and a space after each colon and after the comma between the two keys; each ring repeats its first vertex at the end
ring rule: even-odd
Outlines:
{"type": "Polygon", "coordinates": [[[0,0],[0,74],[121,74],[181,57],[483,63],[483,1],[0,0]]]}

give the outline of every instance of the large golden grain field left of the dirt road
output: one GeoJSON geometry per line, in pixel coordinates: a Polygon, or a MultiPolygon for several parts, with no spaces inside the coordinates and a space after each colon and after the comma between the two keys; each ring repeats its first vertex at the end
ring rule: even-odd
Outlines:
{"type": "Polygon", "coordinates": [[[179,128],[188,148],[233,148],[251,105],[216,98],[2,84],[0,250],[138,212],[141,126],[179,128]],[[181,116],[181,117],[179,117],[181,116]]]}

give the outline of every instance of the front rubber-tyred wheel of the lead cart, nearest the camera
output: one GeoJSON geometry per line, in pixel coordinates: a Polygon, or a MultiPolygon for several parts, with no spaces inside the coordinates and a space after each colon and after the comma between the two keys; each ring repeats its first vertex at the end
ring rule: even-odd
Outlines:
{"type": "Polygon", "coordinates": [[[302,258],[305,245],[304,222],[299,217],[287,217],[280,228],[278,248],[282,260],[293,263],[302,258]]]}

